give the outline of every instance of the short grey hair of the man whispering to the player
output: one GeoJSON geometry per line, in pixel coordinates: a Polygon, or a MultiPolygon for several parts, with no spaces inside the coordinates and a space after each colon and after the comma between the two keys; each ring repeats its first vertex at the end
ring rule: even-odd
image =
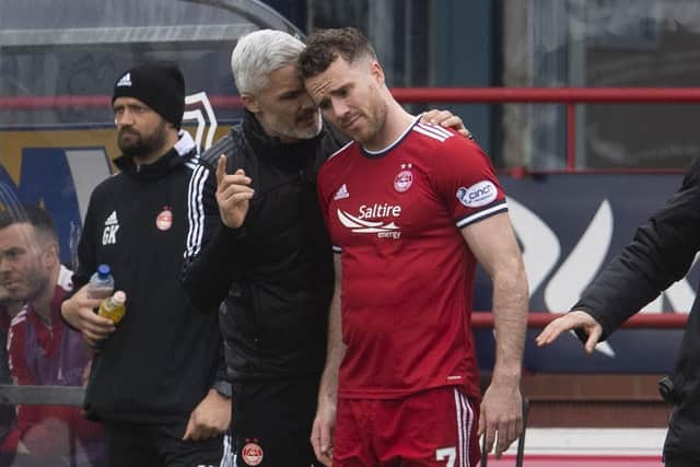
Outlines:
{"type": "Polygon", "coordinates": [[[269,82],[269,74],[296,63],[306,46],[296,37],[273,30],[243,36],[231,54],[231,71],[238,93],[255,95],[269,82]]]}

